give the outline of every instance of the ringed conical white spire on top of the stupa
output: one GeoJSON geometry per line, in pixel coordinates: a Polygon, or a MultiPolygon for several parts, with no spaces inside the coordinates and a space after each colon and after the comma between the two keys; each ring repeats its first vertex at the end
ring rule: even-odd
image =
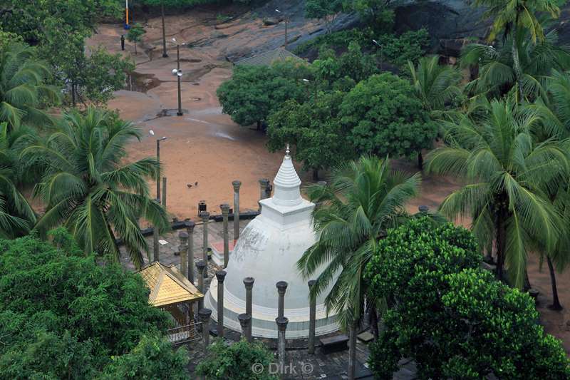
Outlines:
{"type": "Polygon", "coordinates": [[[293,206],[303,201],[301,198],[301,179],[295,170],[291,159],[289,144],[286,146],[285,157],[281,168],[273,181],[275,192],[273,202],[276,205],[293,206]]]}

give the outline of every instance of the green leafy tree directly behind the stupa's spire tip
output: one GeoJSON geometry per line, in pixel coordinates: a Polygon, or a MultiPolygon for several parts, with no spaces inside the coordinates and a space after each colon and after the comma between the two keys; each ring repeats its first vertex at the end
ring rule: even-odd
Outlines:
{"type": "Polygon", "coordinates": [[[318,180],[318,170],[352,158],[346,131],[336,118],[342,99],[343,93],[336,91],[303,104],[283,103],[279,111],[269,116],[269,150],[280,150],[288,143],[294,145],[296,160],[303,162],[304,170],[313,170],[314,180],[318,180]]]}

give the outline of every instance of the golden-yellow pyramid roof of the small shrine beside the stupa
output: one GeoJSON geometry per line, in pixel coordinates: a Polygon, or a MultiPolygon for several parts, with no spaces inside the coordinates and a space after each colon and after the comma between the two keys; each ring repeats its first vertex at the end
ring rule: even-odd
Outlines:
{"type": "Polygon", "coordinates": [[[190,282],[174,265],[170,267],[153,262],[138,272],[150,289],[148,302],[162,307],[180,302],[204,298],[204,294],[190,282]]]}

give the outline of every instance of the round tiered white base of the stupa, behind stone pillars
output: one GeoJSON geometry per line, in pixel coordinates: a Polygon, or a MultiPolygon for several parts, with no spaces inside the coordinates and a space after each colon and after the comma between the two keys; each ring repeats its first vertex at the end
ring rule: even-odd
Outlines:
{"type": "MultiPolygon", "coordinates": [[[[212,319],[217,322],[217,287],[218,282],[214,277],[209,286],[209,291],[204,297],[204,307],[212,310],[212,319]]],[[[275,299],[277,304],[277,299],[275,299]]],[[[275,305],[277,306],[277,305],[275,305]]],[[[289,319],[287,324],[287,339],[301,339],[309,337],[309,302],[307,307],[301,309],[287,309],[285,304],[284,315],[289,319]]],[[[261,338],[277,339],[277,308],[261,307],[253,304],[252,307],[252,336],[261,338]]],[[[234,297],[224,289],[224,327],[241,332],[237,316],[245,312],[245,301],[234,297]]],[[[315,335],[325,335],[338,331],[336,317],[326,317],[324,305],[316,306],[315,335]]]]}

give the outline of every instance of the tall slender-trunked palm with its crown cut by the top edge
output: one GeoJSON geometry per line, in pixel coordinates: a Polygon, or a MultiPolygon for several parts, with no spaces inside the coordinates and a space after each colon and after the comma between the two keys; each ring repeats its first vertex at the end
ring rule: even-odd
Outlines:
{"type": "Polygon", "coordinates": [[[514,79],[518,84],[519,101],[523,100],[524,83],[522,81],[522,67],[519,59],[519,46],[521,41],[519,33],[523,30],[529,32],[532,43],[544,41],[544,29],[537,19],[539,12],[550,14],[552,19],[557,19],[560,9],[555,0],[475,0],[475,6],[487,8],[485,16],[494,18],[489,41],[494,41],[502,34],[504,38],[512,37],[512,62],[514,79]]]}

